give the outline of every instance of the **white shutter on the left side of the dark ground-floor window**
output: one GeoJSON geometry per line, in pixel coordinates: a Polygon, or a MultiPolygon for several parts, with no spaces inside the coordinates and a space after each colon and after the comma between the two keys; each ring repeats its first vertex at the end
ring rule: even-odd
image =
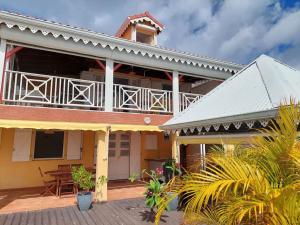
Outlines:
{"type": "Polygon", "coordinates": [[[15,129],[12,161],[29,161],[31,147],[31,129],[15,129]]]}

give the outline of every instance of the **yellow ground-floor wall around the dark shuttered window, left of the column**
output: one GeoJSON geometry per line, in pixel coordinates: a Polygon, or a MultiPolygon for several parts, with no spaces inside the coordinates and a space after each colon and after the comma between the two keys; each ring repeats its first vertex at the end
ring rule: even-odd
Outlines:
{"type": "MultiPolygon", "coordinates": [[[[58,164],[82,163],[93,166],[95,135],[92,131],[83,132],[82,160],[32,160],[27,162],[12,162],[14,129],[2,129],[0,138],[0,189],[24,188],[42,186],[38,167],[42,171],[55,170],[58,164]]],[[[67,142],[67,141],[66,141],[67,142]]],[[[66,144],[64,148],[66,149],[66,144]]],[[[49,177],[50,179],[50,177],[49,177]]]]}

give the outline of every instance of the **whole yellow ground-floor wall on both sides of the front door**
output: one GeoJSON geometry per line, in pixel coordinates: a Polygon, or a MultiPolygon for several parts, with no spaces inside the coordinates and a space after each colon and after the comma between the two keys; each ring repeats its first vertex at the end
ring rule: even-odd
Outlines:
{"type": "MultiPolygon", "coordinates": [[[[14,143],[14,129],[1,129],[0,138],[0,189],[25,188],[42,186],[42,178],[39,174],[38,167],[42,171],[57,169],[59,164],[75,164],[82,163],[87,167],[94,164],[94,144],[95,132],[83,132],[83,151],[81,160],[66,160],[66,150],[64,151],[64,159],[53,160],[30,160],[24,162],[13,162],[12,152],[14,143]]],[[[67,132],[67,131],[66,131],[67,132]]],[[[161,132],[132,132],[132,141],[135,146],[131,148],[130,172],[141,172],[143,169],[149,168],[149,161],[144,159],[166,159],[171,158],[171,141],[165,140],[161,132]],[[157,136],[157,149],[146,150],[146,135],[157,136]],[[139,139],[139,140],[138,140],[139,139]]],[[[32,145],[34,141],[32,140],[32,145]]],[[[67,140],[65,139],[64,149],[67,148],[67,140]]],[[[31,148],[32,149],[32,148],[31,148]]],[[[33,152],[31,152],[31,155],[33,152]]],[[[46,179],[51,179],[46,177],[46,179]]]]}

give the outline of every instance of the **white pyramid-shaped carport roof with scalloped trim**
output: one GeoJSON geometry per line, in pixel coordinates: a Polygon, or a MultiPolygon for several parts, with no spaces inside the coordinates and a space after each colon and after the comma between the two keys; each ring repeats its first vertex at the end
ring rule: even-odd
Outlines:
{"type": "Polygon", "coordinates": [[[227,130],[230,124],[239,129],[246,123],[251,128],[255,121],[265,126],[280,103],[290,98],[300,99],[300,71],[261,55],[161,128],[227,130]]]}

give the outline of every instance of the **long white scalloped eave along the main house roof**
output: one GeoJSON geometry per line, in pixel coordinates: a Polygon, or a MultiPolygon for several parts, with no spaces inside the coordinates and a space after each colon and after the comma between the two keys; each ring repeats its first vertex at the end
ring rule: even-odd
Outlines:
{"type": "MultiPolygon", "coordinates": [[[[58,23],[52,23],[40,19],[35,19],[26,16],[15,15],[7,12],[0,12],[0,23],[5,23],[7,27],[18,26],[23,31],[26,28],[45,31],[48,34],[52,34],[54,37],[58,37],[61,34],[69,36],[69,38],[76,38],[76,42],[82,40],[84,43],[92,42],[94,46],[101,43],[102,47],[110,46],[111,49],[119,49],[122,51],[133,52],[146,52],[149,56],[155,55],[157,58],[163,60],[168,59],[169,61],[174,60],[175,62],[192,64],[193,66],[203,66],[204,68],[216,70],[227,70],[238,71],[243,68],[243,65],[225,62],[217,59],[208,57],[195,56],[183,52],[176,52],[174,50],[163,49],[157,46],[151,46],[143,43],[137,43],[122,38],[117,38],[101,33],[92,32],[89,30],[83,30],[80,28],[70,27],[58,23]]],[[[145,54],[146,54],[145,53],[145,54]]]]}

